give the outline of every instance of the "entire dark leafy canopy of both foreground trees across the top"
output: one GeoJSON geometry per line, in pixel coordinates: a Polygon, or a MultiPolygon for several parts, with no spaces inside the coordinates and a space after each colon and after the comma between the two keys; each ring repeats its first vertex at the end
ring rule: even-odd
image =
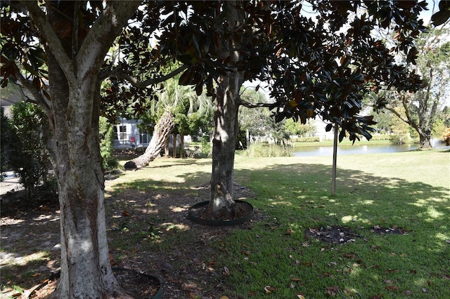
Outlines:
{"type": "MultiPolygon", "coordinates": [[[[89,31],[103,9],[101,1],[90,3],[90,8],[79,3],[83,18],[77,24],[79,34],[89,31]]],[[[304,124],[319,116],[342,128],[341,139],[348,133],[355,140],[359,135],[370,138],[373,124],[371,117],[359,116],[364,93],[383,87],[420,88],[418,75],[397,64],[394,55],[404,53],[406,62],[415,63],[418,51],[413,39],[425,31],[418,19],[425,1],[243,1],[238,6],[245,22],[236,30],[227,23],[223,5],[146,1],[104,62],[100,77],[110,77],[112,84],[103,102],[143,111],[148,108],[143,99],[158,100],[153,84],[174,74],[182,73],[179,83],[195,86],[198,95],[204,84],[207,94],[214,95],[214,82],[221,74],[243,71],[246,80],[269,83],[277,121],[292,117],[304,124]],[[304,6],[314,14],[304,13],[304,6]],[[392,28],[396,34],[392,48],[373,36],[377,28],[392,28]],[[158,46],[151,44],[155,39],[158,46]],[[236,48],[230,48],[230,39],[236,48]],[[232,62],[224,49],[238,51],[239,60],[232,62]],[[167,72],[165,67],[175,59],[179,64],[167,72]]],[[[22,61],[34,87],[43,89],[44,49],[32,37],[27,15],[11,18],[13,7],[17,8],[4,10],[3,17],[10,14],[10,18],[2,18],[3,32],[15,32],[4,36],[3,83],[10,75],[17,76],[13,62],[22,61]]],[[[67,31],[72,25],[60,20],[57,26],[67,31]]]]}

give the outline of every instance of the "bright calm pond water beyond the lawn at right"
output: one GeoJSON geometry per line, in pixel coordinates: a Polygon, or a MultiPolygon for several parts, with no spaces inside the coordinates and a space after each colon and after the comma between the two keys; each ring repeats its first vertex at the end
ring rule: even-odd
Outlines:
{"type": "MultiPolygon", "coordinates": [[[[445,147],[442,143],[432,142],[433,147],[437,148],[449,148],[445,147]],[[434,143],[434,144],[433,144],[434,143]]],[[[380,154],[386,152],[406,152],[409,150],[416,150],[418,145],[358,145],[355,142],[354,145],[338,145],[338,155],[342,154],[380,154]]],[[[306,156],[333,156],[333,147],[295,147],[293,156],[306,157],[306,156]]]]}

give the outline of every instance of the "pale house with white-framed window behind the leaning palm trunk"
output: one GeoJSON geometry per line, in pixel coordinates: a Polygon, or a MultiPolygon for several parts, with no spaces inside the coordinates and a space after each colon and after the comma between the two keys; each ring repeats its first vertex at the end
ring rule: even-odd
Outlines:
{"type": "Polygon", "coordinates": [[[148,132],[139,131],[136,119],[119,118],[119,124],[114,125],[114,147],[117,149],[148,147],[152,136],[148,132]]]}

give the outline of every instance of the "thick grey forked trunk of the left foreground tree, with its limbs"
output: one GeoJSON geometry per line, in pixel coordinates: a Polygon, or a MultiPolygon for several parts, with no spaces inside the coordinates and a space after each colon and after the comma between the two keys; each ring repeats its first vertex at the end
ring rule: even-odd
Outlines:
{"type": "Polygon", "coordinates": [[[53,28],[79,28],[80,2],[46,1],[43,11],[36,1],[23,1],[45,44],[49,69],[51,101],[39,94],[38,98],[56,140],[61,274],[53,298],[130,298],[117,283],[109,260],[98,75],[110,45],[139,4],[108,1],[88,34],[67,36],[67,31],[53,28]]]}

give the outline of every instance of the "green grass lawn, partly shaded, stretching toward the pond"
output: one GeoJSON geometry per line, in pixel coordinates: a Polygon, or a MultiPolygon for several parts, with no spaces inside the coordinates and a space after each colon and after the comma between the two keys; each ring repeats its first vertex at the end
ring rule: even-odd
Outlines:
{"type": "MultiPolygon", "coordinates": [[[[450,153],[236,157],[235,182],[257,196],[250,229],[207,246],[226,269],[229,298],[450,298],[450,153]],[[360,237],[330,244],[307,230],[338,225],[360,237]],[[405,234],[378,234],[374,227],[405,234]]],[[[158,159],[124,179],[133,187],[188,190],[210,179],[210,159],[158,159]],[[158,182],[158,183],[157,183],[158,182]],[[136,183],[137,184],[137,183],[136,183]]],[[[122,178],[118,179],[119,182],[122,178]]]]}

